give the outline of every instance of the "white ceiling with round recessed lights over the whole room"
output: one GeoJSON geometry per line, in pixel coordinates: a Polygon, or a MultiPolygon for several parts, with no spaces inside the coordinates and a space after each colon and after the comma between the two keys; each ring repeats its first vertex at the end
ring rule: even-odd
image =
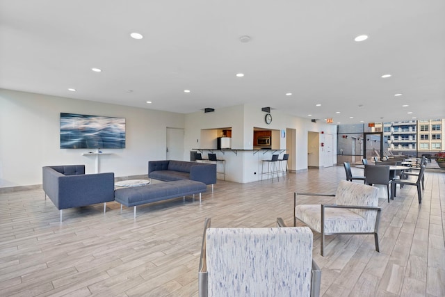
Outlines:
{"type": "Polygon", "coordinates": [[[0,0],[0,88],[334,124],[445,118],[445,1],[0,0]]]}

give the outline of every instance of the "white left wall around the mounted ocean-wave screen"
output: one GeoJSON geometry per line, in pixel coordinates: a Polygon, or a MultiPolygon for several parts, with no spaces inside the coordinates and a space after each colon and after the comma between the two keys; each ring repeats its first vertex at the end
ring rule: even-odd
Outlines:
{"type": "MultiPolygon", "coordinates": [[[[147,175],[149,160],[165,159],[166,128],[184,128],[184,115],[0,89],[0,187],[42,184],[42,166],[85,164],[90,150],[60,149],[60,112],[126,118],[126,148],[102,150],[100,171],[147,175]]],[[[187,156],[188,158],[188,156],[187,156]]]]}

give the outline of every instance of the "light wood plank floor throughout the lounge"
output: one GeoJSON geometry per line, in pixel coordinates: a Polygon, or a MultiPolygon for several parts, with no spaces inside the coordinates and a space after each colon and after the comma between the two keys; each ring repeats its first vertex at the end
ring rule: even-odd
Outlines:
{"type": "MultiPolygon", "coordinates": [[[[358,168],[353,168],[359,172],[358,168]]],[[[120,212],[120,204],[64,211],[42,190],[0,194],[0,296],[197,296],[204,218],[214,227],[293,222],[293,192],[332,193],[343,167],[291,173],[280,182],[219,181],[214,193],[120,212]]],[[[210,187],[209,187],[210,190],[210,187]]],[[[327,199],[312,198],[322,202],[327,199]]],[[[445,174],[426,172],[423,201],[405,186],[380,199],[380,253],[372,235],[327,236],[322,296],[445,296],[445,174]]]]}

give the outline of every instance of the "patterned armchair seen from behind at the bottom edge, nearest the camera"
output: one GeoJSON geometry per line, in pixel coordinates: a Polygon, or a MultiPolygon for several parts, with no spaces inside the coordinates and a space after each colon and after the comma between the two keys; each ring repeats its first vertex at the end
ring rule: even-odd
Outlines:
{"type": "Polygon", "coordinates": [[[213,228],[204,223],[199,296],[319,296],[308,227],[213,228]]]}

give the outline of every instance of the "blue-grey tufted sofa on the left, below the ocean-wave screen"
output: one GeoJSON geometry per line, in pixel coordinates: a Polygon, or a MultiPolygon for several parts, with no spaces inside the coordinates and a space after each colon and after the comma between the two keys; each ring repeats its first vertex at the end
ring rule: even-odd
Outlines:
{"type": "Polygon", "coordinates": [[[114,201],[114,173],[85,174],[85,165],[44,166],[43,191],[57,209],[60,222],[63,209],[114,201]]]}

